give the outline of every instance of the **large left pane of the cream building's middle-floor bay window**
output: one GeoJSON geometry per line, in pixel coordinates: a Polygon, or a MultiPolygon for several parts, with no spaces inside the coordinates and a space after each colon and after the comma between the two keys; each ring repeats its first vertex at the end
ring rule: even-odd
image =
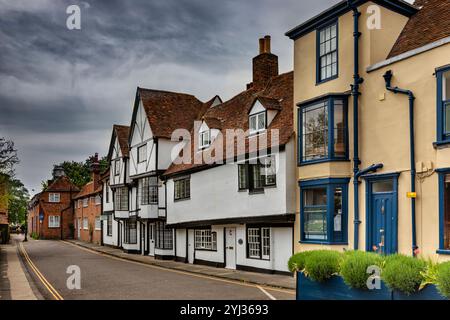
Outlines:
{"type": "Polygon", "coordinates": [[[326,102],[308,106],[303,111],[303,160],[328,155],[328,111],[326,102]]]}

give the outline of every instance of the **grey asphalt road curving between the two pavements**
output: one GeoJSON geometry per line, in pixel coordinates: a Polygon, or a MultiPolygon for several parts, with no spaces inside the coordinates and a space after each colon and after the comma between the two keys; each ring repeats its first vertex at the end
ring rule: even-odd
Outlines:
{"type": "MultiPolygon", "coordinates": [[[[20,244],[19,244],[20,245],[20,244]]],[[[64,300],[293,300],[288,290],[261,288],[104,256],[61,241],[23,243],[24,262],[45,299],[64,300]],[[69,266],[80,270],[80,289],[69,289],[69,266]]]]}

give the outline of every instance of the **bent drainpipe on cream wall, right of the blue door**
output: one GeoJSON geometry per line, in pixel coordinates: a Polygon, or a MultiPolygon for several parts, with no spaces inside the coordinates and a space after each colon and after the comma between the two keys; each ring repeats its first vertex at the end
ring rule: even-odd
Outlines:
{"type": "MultiPolygon", "coordinates": [[[[392,87],[392,71],[389,70],[384,74],[384,80],[386,81],[386,89],[408,96],[409,100],[409,152],[410,152],[410,171],[411,171],[411,192],[416,192],[416,159],[415,159],[415,143],[414,143],[414,93],[411,90],[400,89],[398,87],[392,87]]],[[[416,198],[411,197],[411,224],[412,224],[412,252],[413,256],[416,256],[417,241],[416,241],[416,198]]]]}

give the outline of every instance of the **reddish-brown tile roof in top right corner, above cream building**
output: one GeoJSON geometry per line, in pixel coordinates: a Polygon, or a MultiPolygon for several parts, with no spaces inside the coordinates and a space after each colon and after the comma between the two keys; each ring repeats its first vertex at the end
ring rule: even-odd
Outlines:
{"type": "Polygon", "coordinates": [[[414,5],[422,8],[409,19],[388,58],[450,37],[450,0],[419,0],[414,5]]]}

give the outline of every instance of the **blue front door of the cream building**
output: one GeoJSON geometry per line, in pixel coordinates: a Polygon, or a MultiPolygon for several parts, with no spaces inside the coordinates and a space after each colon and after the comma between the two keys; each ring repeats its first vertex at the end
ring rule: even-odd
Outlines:
{"type": "Polygon", "coordinates": [[[393,179],[373,181],[370,186],[369,250],[397,252],[397,195],[393,179]]]}

